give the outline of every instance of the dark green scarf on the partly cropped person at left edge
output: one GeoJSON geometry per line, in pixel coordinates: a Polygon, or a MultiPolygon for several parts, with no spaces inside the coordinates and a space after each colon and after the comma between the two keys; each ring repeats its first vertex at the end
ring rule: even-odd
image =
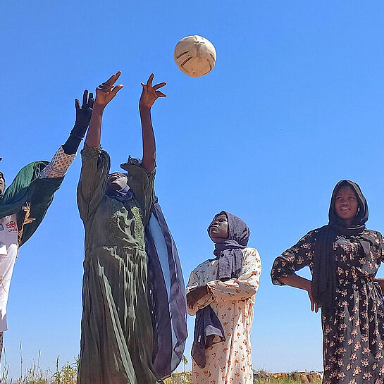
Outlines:
{"type": "Polygon", "coordinates": [[[48,161],[33,161],[21,168],[0,196],[0,218],[17,214],[20,246],[37,230],[63,181],[63,178],[39,178],[47,164],[48,161]]]}

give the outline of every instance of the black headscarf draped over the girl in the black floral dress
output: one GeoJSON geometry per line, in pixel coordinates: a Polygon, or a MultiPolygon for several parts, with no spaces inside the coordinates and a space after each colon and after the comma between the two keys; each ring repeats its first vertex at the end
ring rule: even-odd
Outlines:
{"type": "Polygon", "coordinates": [[[330,199],[328,218],[328,225],[319,228],[316,236],[311,285],[312,296],[315,302],[321,306],[323,314],[332,313],[335,307],[337,274],[333,244],[336,241],[337,235],[343,235],[352,242],[359,243],[360,256],[368,254],[372,245],[370,237],[364,235],[365,223],[368,220],[368,204],[356,182],[351,180],[340,180],[337,182],[330,199]],[[337,216],[335,211],[337,192],[340,187],[345,186],[351,187],[354,190],[358,202],[357,214],[349,227],[337,216]]]}

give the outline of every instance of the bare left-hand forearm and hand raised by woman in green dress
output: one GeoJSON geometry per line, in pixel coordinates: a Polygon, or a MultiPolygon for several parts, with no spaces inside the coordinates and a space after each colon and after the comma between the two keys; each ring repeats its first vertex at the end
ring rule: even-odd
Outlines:
{"type": "Polygon", "coordinates": [[[85,139],[87,147],[100,147],[101,139],[101,120],[103,119],[103,112],[106,104],[109,103],[116,96],[116,93],[123,88],[123,84],[115,86],[115,82],[120,77],[120,70],[111,78],[103,82],[96,89],[96,100],[94,101],[91,122],[89,123],[89,130],[85,139]]]}

